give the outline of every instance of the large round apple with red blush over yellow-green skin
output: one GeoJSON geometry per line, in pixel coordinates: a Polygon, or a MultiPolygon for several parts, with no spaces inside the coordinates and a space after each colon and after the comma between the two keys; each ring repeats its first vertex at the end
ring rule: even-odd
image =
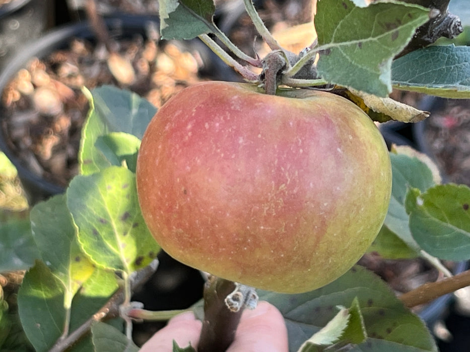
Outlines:
{"type": "Polygon", "coordinates": [[[204,82],[150,122],[137,187],[150,231],[175,259],[301,293],[368,249],[387,213],[391,166],[374,123],[344,98],[204,82]]]}

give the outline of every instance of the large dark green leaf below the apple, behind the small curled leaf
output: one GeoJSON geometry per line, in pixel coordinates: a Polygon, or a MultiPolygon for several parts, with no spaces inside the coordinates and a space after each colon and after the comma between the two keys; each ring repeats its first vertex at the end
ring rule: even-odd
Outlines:
{"type": "Polygon", "coordinates": [[[356,350],[368,350],[369,344],[393,345],[396,349],[425,350],[437,347],[424,322],[405,308],[380,278],[362,267],[354,267],[339,279],[318,290],[285,295],[258,291],[260,299],[274,304],[283,314],[289,334],[289,350],[319,331],[337,314],[334,307],[352,307],[354,300],[361,307],[367,338],[356,350]]]}

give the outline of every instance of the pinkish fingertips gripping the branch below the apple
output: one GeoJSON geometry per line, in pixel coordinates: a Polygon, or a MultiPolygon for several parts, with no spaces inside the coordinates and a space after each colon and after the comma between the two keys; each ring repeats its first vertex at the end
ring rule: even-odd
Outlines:
{"type": "MultiPolygon", "coordinates": [[[[172,352],[173,340],[180,347],[197,347],[202,322],[192,312],[179,314],[143,346],[141,352],[172,352]]],[[[256,309],[245,309],[227,352],[287,352],[287,329],[279,310],[270,303],[259,302],[256,309]]]]}

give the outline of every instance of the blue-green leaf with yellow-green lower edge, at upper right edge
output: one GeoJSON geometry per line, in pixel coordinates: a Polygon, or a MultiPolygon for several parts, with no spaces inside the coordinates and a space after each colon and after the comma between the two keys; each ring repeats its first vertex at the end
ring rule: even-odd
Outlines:
{"type": "Polygon", "coordinates": [[[444,98],[470,98],[470,47],[430,46],[392,64],[393,87],[444,98]]]}

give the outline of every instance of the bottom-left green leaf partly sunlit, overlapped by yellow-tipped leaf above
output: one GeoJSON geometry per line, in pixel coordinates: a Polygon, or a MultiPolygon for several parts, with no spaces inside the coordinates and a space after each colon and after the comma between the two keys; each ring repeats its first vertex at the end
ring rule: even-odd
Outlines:
{"type": "Polygon", "coordinates": [[[18,292],[18,310],[26,336],[37,351],[49,350],[59,337],[96,313],[116,289],[114,274],[97,269],[75,295],[70,311],[64,306],[66,291],[61,281],[42,261],[36,261],[18,292]]]}

